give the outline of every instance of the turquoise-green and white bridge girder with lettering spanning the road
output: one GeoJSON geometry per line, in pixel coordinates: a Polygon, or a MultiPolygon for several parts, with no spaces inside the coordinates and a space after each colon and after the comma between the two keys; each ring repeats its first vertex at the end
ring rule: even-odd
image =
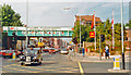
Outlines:
{"type": "Polygon", "coordinates": [[[71,37],[73,34],[72,27],[16,27],[16,26],[3,26],[3,33],[8,33],[8,36],[12,36],[15,32],[17,36],[60,36],[60,37],[71,37]]]}

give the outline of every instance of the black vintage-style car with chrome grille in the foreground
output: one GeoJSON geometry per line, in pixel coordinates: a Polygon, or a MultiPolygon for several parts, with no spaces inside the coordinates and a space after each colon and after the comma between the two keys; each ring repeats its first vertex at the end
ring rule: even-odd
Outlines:
{"type": "Polygon", "coordinates": [[[26,64],[41,64],[41,50],[40,48],[34,48],[32,49],[26,49],[23,50],[24,55],[20,55],[20,63],[21,65],[26,65],[26,64]]]}

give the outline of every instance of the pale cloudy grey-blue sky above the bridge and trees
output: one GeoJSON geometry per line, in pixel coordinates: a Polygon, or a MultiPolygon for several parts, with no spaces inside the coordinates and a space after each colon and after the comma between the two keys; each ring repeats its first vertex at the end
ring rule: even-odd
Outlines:
{"type": "MultiPolygon", "coordinates": [[[[120,23],[120,0],[3,0],[1,4],[7,3],[21,14],[21,20],[28,26],[73,26],[74,15],[92,15],[95,11],[96,16],[102,21],[112,17],[115,10],[115,23],[120,23]],[[28,7],[27,7],[28,4],[28,7]],[[69,11],[63,8],[71,8],[69,11]],[[28,11],[28,14],[27,14],[28,11]],[[28,20],[27,20],[28,17],[28,20]]],[[[129,0],[123,3],[123,23],[129,21],[129,0]]]]}

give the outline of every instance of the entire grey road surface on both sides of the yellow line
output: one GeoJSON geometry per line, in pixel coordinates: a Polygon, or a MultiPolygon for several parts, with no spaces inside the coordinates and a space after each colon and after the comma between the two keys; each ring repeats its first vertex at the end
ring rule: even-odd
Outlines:
{"type": "MultiPolygon", "coordinates": [[[[3,73],[108,73],[112,68],[112,62],[75,62],[71,61],[68,55],[55,53],[43,53],[41,65],[20,65],[19,61],[11,59],[2,60],[3,73]],[[81,66],[80,66],[81,65],[81,66]]],[[[127,63],[126,66],[129,66],[127,63]]]]}

